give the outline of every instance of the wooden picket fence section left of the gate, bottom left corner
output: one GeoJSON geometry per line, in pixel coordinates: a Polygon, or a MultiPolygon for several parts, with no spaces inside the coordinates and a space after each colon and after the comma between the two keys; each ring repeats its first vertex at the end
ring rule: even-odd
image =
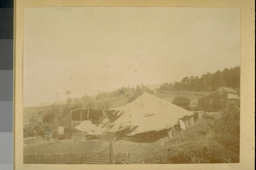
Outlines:
{"type": "Polygon", "coordinates": [[[24,155],[23,162],[25,164],[82,164],[82,154],[34,154],[24,155]]]}

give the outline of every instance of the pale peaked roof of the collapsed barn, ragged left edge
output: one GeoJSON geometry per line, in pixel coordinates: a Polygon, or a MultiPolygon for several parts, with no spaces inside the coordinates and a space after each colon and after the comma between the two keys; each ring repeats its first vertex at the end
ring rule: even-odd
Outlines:
{"type": "Polygon", "coordinates": [[[113,122],[105,131],[116,132],[134,128],[130,136],[163,130],[174,126],[184,116],[193,115],[179,106],[144,92],[135,101],[121,107],[108,109],[108,117],[113,122]],[[111,117],[115,117],[113,120],[111,117]]]}

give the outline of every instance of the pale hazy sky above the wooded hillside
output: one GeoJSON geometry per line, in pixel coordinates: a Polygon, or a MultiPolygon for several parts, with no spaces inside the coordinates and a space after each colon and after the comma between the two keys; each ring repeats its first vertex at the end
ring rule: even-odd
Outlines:
{"type": "Polygon", "coordinates": [[[30,7],[24,106],[240,65],[239,8],[30,7]]]}

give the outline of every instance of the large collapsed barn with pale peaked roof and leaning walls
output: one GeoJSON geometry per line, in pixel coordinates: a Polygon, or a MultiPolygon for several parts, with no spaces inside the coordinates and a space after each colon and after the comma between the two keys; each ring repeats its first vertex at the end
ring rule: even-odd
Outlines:
{"type": "Polygon", "coordinates": [[[144,92],[135,101],[106,110],[102,120],[103,140],[118,139],[120,135],[154,141],[172,137],[176,128],[194,125],[194,113],[144,92]],[[109,120],[106,120],[106,119],[109,120]]]}

